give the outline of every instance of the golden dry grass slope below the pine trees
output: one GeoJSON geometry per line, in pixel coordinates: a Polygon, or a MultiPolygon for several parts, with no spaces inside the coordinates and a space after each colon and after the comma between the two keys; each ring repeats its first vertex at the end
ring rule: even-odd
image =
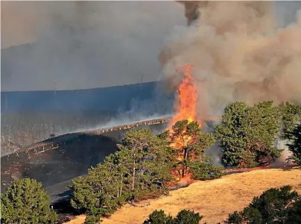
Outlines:
{"type": "MultiPolygon", "coordinates": [[[[206,221],[215,224],[225,220],[233,211],[243,209],[255,195],[285,184],[293,186],[293,189],[301,193],[301,170],[254,170],[227,175],[221,179],[195,182],[187,188],[171,191],[169,196],[140,202],[140,205],[149,202],[145,207],[125,205],[102,223],[141,224],[155,209],[163,209],[172,216],[176,216],[181,209],[193,209],[204,216],[203,223],[206,221]]],[[[83,221],[84,216],[79,216],[68,224],[79,224],[83,221]]]]}

